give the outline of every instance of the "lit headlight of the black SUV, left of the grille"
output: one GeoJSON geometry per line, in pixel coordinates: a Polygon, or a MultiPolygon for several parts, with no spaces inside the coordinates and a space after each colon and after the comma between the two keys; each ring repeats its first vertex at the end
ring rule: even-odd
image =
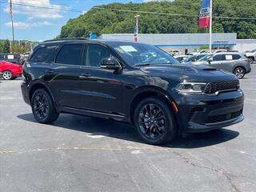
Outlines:
{"type": "Polygon", "coordinates": [[[182,82],[176,86],[176,90],[182,93],[200,94],[206,88],[206,83],[203,82],[182,82]]]}

